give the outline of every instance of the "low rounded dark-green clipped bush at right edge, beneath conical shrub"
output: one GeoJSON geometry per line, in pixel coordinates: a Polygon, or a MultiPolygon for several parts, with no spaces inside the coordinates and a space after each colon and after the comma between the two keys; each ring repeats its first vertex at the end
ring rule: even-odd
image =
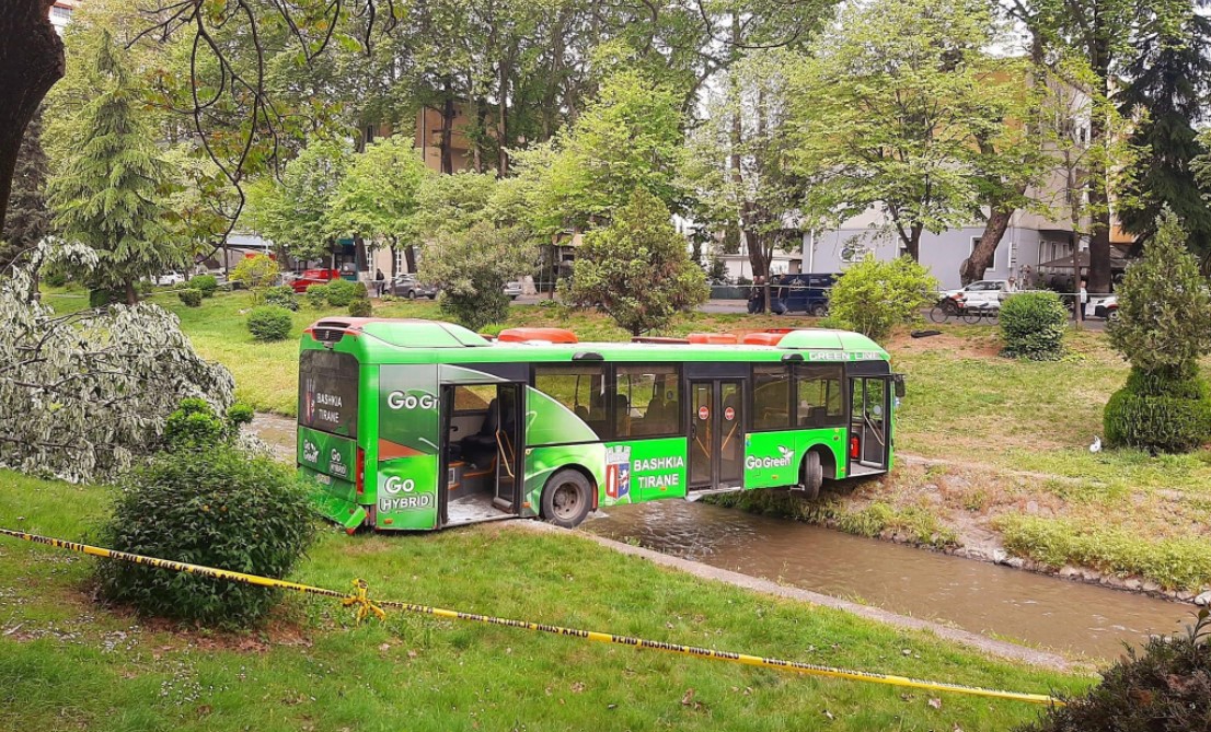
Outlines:
{"type": "Polygon", "coordinates": [[[1196,375],[1166,377],[1131,369],[1102,416],[1106,442],[1159,453],[1186,453],[1211,440],[1211,388],[1196,375]]]}

